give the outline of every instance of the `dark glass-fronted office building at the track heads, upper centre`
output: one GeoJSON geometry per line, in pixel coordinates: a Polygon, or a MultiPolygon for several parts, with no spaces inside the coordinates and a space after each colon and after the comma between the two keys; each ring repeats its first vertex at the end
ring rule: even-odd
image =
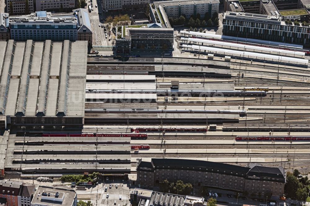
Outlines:
{"type": "Polygon", "coordinates": [[[141,25],[140,28],[117,27],[116,53],[130,54],[131,49],[173,50],[173,28],[162,24],[141,25]]]}

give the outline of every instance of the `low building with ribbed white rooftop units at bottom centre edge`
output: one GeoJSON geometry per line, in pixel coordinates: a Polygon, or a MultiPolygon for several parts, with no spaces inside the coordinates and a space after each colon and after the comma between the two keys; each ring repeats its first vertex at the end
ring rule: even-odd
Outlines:
{"type": "Polygon", "coordinates": [[[204,204],[203,197],[175,195],[140,188],[130,191],[130,199],[134,200],[140,206],[203,206],[204,204]]]}

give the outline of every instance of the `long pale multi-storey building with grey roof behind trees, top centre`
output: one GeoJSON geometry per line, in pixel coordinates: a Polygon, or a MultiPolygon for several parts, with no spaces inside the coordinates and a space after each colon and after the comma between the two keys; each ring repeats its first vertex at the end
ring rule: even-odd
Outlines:
{"type": "Polygon", "coordinates": [[[167,17],[179,18],[180,15],[185,15],[189,18],[191,15],[200,14],[201,18],[206,13],[213,15],[219,13],[219,0],[180,0],[180,1],[160,1],[154,2],[155,8],[162,7],[167,17]]]}

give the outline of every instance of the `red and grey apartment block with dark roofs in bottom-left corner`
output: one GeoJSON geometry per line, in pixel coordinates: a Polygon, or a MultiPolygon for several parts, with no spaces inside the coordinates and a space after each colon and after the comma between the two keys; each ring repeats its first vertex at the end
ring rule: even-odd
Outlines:
{"type": "Polygon", "coordinates": [[[7,206],[30,206],[34,191],[34,185],[0,180],[0,198],[7,200],[7,206]]]}

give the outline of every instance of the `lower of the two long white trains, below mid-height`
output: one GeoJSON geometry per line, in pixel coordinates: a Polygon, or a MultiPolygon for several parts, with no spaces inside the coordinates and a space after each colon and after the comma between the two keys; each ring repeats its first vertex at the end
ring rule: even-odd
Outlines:
{"type": "Polygon", "coordinates": [[[210,113],[210,114],[241,114],[244,110],[219,110],[219,109],[85,109],[85,112],[102,113],[210,113]]]}

